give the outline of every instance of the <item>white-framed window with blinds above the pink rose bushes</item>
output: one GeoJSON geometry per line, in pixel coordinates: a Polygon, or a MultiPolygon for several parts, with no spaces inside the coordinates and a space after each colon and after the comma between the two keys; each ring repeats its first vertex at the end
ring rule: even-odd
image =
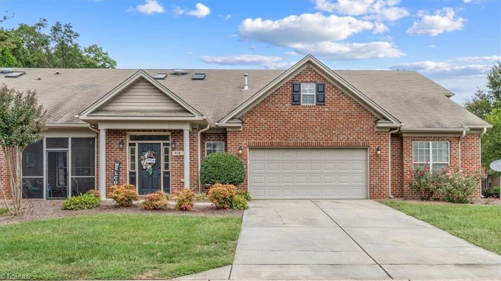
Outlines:
{"type": "Polygon", "coordinates": [[[414,164],[428,166],[430,170],[441,170],[449,165],[449,142],[414,141],[412,160],[414,164]]]}

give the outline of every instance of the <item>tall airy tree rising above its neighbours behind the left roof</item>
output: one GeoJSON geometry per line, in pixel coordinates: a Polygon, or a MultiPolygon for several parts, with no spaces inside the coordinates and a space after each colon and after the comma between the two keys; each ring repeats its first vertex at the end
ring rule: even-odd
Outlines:
{"type": "Polygon", "coordinates": [[[79,33],[73,30],[71,23],[62,24],[56,21],[51,27],[51,40],[54,44],[54,58],[58,65],[63,68],[68,66],[68,60],[71,58],[70,53],[75,51],[79,33]]]}

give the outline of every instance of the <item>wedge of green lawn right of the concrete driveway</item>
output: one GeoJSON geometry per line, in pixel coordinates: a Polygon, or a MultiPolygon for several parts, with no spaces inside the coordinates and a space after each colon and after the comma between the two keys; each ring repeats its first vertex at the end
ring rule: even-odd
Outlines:
{"type": "Polygon", "coordinates": [[[501,254],[501,205],[402,201],[381,203],[501,254]]]}

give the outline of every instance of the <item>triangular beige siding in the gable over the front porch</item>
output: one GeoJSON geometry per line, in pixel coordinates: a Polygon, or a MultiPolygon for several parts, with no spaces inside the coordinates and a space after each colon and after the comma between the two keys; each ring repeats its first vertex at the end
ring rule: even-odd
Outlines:
{"type": "Polygon", "coordinates": [[[143,78],[130,85],[115,98],[104,104],[100,109],[187,112],[179,103],[143,78]]]}

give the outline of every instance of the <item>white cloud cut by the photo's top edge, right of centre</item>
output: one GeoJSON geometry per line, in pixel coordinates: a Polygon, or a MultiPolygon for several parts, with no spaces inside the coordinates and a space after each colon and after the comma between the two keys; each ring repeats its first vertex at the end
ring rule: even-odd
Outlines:
{"type": "Polygon", "coordinates": [[[363,19],[395,21],[409,15],[409,11],[397,7],[399,0],[316,0],[315,8],[344,15],[364,15],[363,19]]]}

